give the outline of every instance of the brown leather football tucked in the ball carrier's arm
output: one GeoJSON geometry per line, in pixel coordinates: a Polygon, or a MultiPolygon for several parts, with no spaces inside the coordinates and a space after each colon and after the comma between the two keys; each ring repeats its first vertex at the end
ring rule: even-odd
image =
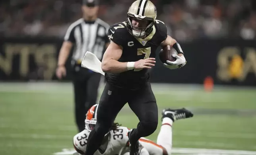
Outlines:
{"type": "Polygon", "coordinates": [[[159,59],[162,63],[166,63],[166,60],[175,61],[176,58],[172,57],[173,54],[178,54],[178,52],[176,49],[168,45],[160,51],[159,59]]]}

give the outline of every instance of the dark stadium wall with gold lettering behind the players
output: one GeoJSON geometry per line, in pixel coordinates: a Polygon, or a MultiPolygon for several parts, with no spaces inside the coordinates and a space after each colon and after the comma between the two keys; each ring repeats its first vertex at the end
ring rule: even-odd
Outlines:
{"type": "MultiPolygon", "coordinates": [[[[61,45],[62,40],[57,38],[0,38],[0,81],[56,80],[61,45]]],[[[211,76],[215,84],[256,86],[254,40],[204,39],[180,45],[186,66],[169,70],[157,56],[151,82],[203,83],[211,76]]],[[[70,58],[66,67],[70,72],[70,58]]],[[[68,74],[64,81],[70,78],[68,74]]]]}

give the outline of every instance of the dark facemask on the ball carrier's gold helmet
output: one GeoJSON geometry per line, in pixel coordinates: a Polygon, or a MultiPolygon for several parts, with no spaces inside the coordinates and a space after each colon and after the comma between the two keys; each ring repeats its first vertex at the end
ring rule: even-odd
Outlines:
{"type": "Polygon", "coordinates": [[[127,30],[130,32],[130,34],[134,37],[138,38],[144,38],[147,37],[152,32],[152,27],[154,25],[154,19],[152,18],[140,18],[135,17],[135,15],[129,14],[127,15],[127,30]],[[147,26],[145,27],[136,27],[132,25],[132,20],[144,20],[147,21],[147,26]]]}

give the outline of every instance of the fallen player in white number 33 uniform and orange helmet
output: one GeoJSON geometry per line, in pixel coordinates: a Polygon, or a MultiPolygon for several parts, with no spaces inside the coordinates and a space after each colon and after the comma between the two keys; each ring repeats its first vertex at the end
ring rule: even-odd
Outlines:
{"type": "MultiPolygon", "coordinates": [[[[87,138],[97,121],[98,104],[92,106],[85,119],[85,130],[76,134],[73,144],[76,154],[84,155],[87,146],[87,138]]],[[[182,108],[177,110],[164,109],[162,112],[161,130],[157,136],[157,144],[147,138],[140,138],[140,155],[171,155],[172,126],[178,119],[193,117],[193,113],[182,108]]],[[[114,123],[110,131],[105,135],[103,143],[94,155],[130,155],[129,139],[127,133],[130,129],[114,123]]]]}

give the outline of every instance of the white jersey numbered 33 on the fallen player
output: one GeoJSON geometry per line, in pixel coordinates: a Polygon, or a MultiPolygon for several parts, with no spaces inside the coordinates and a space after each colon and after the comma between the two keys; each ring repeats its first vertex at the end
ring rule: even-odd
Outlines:
{"type": "MultiPolygon", "coordinates": [[[[128,142],[128,131],[127,127],[118,127],[117,130],[111,130],[94,155],[121,155],[124,153],[124,148],[128,142]]],[[[78,153],[85,153],[89,133],[88,130],[83,130],[74,136],[73,144],[78,153]]]]}

